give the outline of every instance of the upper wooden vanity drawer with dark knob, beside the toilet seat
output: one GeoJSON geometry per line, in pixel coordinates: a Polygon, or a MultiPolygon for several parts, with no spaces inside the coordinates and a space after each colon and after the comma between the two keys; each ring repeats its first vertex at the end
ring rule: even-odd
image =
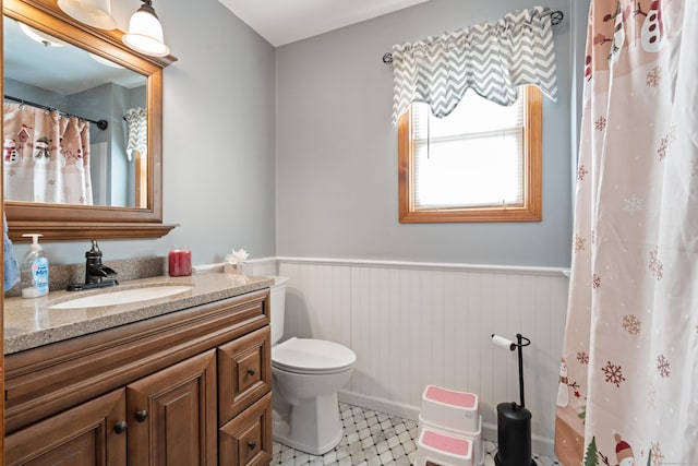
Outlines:
{"type": "Polygon", "coordinates": [[[218,425],[272,390],[272,333],[265,326],[218,347],[218,425]]]}

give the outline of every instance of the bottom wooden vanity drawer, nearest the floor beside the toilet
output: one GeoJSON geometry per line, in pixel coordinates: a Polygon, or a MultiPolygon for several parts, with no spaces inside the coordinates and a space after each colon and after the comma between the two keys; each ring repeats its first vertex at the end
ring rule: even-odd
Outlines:
{"type": "Polygon", "coordinates": [[[272,393],[218,430],[218,464],[268,465],[272,453],[272,393]]]}

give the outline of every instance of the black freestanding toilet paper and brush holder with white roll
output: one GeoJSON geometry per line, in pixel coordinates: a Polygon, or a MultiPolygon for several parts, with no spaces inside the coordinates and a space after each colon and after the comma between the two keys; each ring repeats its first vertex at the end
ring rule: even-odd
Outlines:
{"type": "Polygon", "coordinates": [[[531,411],[526,409],[524,399],[524,347],[531,340],[516,334],[514,343],[502,336],[492,334],[492,342],[519,353],[519,395],[520,405],[516,402],[500,403],[497,405],[497,454],[494,457],[496,466],[535,466],[531,457],[531,411]]]}

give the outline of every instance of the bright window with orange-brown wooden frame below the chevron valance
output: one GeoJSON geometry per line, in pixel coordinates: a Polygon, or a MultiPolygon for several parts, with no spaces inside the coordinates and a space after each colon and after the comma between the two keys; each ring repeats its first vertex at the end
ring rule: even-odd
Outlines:
{"type": "Polygon", "coordinates": [[[542,95],[503,107],[466,93],[446,118],[412,104],[398,121],[400,223],[541,219],[542,95]]]}

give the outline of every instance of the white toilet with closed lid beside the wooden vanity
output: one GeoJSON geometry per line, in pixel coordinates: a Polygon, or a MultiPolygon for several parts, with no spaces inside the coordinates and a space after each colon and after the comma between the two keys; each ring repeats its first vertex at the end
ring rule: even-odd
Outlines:
{"type": "Polygon", "coordinates": [[[349,382],[357,355],[323,339],[284,335],[287,277],[272,286],[273,437],[294,450],[322,455],[344,435],[337,391],[349,382]],[[277,344],[278,343],[278,344],[277,344]]]}

